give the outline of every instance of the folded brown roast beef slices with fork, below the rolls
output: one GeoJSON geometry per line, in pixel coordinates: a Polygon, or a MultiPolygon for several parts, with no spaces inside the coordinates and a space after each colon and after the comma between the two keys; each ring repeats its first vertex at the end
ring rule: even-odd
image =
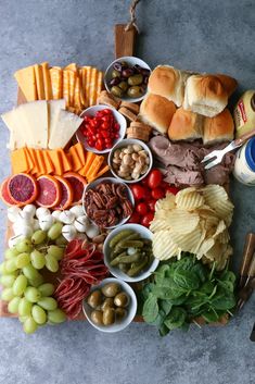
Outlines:
{"type": "Polygon", "coordinates": [[[234,154],[227,153],[219,165],[205,171],[202,159],[215,149],[222,149],[226,144],[204,148],[201,143],[173,144],[161,135],[152,137],[149,146],[158,161],[165,181],[176,186],[218,184],[229,182],[234,154]]]}

